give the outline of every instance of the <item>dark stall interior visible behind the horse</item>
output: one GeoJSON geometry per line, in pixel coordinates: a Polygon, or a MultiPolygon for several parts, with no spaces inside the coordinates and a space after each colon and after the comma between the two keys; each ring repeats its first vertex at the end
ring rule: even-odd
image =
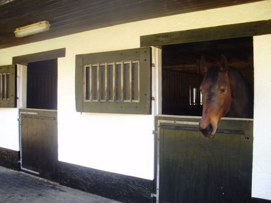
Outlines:
{"type": "MultiPolygon", "coordinates": [[[[223,54],[229,66],[237,68],[254,85],[253,38],[242,37],[162,47],[162,114],[202,116],[203,80],[199,60],[218,62],[223,54]]],[[[253,101],[252,101],[253,102],[253,101]]]]}

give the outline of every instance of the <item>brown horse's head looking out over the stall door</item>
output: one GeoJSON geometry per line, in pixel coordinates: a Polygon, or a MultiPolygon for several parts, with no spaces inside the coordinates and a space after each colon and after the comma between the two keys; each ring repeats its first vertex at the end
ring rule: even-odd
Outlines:
{"type": "Polygon", "coordinates": [[[217,123],[231,108],[231,88],[228,77],[228,61],[221,55],[219,63],[207,63],[202,56],[200,69],[204,79],[200,90],[203,98],[203,115],[199,124],[201,134],[213,138],[217,123]]]}

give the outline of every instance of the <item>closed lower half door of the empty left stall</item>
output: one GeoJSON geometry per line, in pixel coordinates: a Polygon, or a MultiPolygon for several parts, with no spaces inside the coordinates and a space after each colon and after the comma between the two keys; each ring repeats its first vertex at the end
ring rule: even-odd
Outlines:
{"type": "Polygon", "coordinates": [[[22,170],[58,180],[57,112],[20,109],[22,170]]]}

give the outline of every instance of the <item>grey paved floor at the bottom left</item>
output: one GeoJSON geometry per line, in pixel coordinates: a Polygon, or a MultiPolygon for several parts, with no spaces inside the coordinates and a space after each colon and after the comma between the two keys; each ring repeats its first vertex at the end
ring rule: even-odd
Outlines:
{"type": "Polygon", "coordinates": [[[0,166],[0,203],[120,203],[0,166]]]}

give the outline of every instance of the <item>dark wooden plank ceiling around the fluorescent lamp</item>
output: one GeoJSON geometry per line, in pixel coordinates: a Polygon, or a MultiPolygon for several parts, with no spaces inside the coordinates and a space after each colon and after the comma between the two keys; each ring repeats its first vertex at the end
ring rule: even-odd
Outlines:
{"type": "Polygon", "coordinates": [[[259,0],[0,0],[0,49],[91,29],[259,0]],[[16,38],[16,28],[49,21],[50,30],[16,38]]]}

